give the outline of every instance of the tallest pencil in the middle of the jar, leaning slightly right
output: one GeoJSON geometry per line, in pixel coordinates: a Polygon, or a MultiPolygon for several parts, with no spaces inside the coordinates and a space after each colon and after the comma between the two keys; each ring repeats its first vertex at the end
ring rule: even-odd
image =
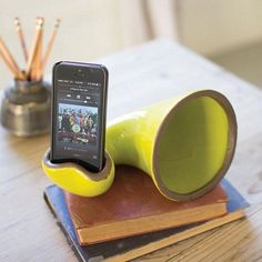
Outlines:
{"type": "Polygon", "coordinates": [[[38,44],[39,44],[39,41],[40,41],[40,38],[41,38],[42,26],[43,26],[43,19],[38,18],[37,19],[36,34],[34,34],[32,48],[31,48],[31,51],[30,51],[30,54],[29,54],[29,58],[28,58],[27,69],[26,69],[26,74],[27,74],[28,79],[31,78],[31,71],[32,71],[36,54],[37,54],[37,51],[38,51],[38,44]]]}

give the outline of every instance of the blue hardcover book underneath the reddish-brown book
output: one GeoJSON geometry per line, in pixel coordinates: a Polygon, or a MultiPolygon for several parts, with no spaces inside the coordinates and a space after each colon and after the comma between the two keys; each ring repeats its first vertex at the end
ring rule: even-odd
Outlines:
{"type": "Polygon", "coordinates": [[[191,223],[89,245],[81,245],[78,241],[64,192],[56,185],[50,185],[44,191],[44,199],[79,261],[101,261],[104,259],[108,261],[127,261],[243,218],[244,209],[249,206],[249,203],[225,179],[221,187],[228,195],[228,213],[225,215],[208,222],[191,223]]]}

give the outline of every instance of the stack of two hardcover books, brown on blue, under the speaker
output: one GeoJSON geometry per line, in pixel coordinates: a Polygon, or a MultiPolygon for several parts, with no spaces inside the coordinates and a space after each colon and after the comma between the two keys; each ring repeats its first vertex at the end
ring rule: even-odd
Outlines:
{"type": "Polygon", "coordinates": [[[103,195],[50,185],[44,199],[80,261],[131,260],[241,219],[249,205],[225,179],[199,199],[174,202],[149,175],[124,165],[103,195]]]}

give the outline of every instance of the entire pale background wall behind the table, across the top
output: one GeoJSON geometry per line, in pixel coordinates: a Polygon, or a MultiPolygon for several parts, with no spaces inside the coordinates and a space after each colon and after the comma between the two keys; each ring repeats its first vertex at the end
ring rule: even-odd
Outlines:
{"type": "MultiPolygon", "coordinates": [[[[0,36],[21,67],[13,18],[20,17],[28,46],[37,16],[46,18],[46,42],[62,19],[47,73],[58,60],[90,61],[154,38],[179,41],[226,67],[220,54],[262,40],[261,0],[0,0],[0,36]]],[[[10,81],[0,61],[0,87],[10,81]]]]}

